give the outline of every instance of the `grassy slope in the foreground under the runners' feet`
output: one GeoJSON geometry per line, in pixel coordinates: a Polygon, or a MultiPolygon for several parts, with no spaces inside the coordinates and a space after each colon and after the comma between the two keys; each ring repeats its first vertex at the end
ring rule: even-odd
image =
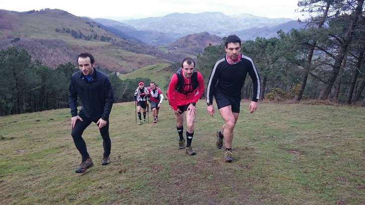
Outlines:
{"type": "Polygon", "coordinates": [[[80,156],[69,109],[1,117],[1,204],[365,203],[365,108],[259,104],[249,114],[242,103],[235,160],[224,163],[215,147],[218,113],[210,117],[198,102],[197,155],[188,156],[177,149],[173,112],[162,106],[160,122],[142,126],[132,103],[113,106],[108,166],[91,124],[83,137],[95,165],[83,174],[74,173],[80,156]]]}

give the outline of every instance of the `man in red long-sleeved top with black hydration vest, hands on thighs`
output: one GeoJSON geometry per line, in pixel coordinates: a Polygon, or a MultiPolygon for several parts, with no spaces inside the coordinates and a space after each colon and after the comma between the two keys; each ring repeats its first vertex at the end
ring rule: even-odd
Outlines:
{"type": "Polygon", "coordinates": [[[194,71],[195,62],[191,58],[182,61],[181,68],[172,75],[168,85],[167,94],[176,117],[176,129],[179,134],[179,149],[185,148],[183,137],[183,123],[186,116],[186,153],[194,155],[196,152],[191,147],[194,136],[194,119],[196,114],[195,104],[204,91],[204,80],[200,72],[194,71]]]}

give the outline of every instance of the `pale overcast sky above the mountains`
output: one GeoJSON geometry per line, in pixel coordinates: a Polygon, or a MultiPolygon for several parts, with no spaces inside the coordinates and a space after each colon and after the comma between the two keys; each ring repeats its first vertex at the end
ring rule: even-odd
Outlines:
{"type": "Polygon", "coordinates": [[[296,4],[297,0],[0,0],[0,8],[5,10],[58,8],[76,16],[115,20],[206,11],[297,19],[301,13],[295,12],[296,4]]]}

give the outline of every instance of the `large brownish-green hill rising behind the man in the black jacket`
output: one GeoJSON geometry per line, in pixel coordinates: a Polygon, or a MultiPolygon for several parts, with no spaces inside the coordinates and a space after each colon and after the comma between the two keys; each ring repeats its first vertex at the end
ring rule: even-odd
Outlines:
{"type": "Polygon", "coordinates": [[[119,72],[130,72],[166,62],[146,55],[159,50],[118,37],[85,18],[59,9],[14,12],[0,9],[0,48],[26,48],[47,66],[75,62],[75,56],[89,51],[96,64],[119,72]]]}

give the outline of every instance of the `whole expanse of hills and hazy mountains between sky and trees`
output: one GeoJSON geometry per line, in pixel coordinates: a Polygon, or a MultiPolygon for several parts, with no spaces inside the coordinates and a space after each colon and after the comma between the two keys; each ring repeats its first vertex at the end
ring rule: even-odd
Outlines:
{"type": "Polygon", "coordinates": [[[90,51],[103,68],[130,72],[148,65],[196,58],[208,45],[237,34],[243,41],[271,38],[278,30],[301,28],[288,18],[266,18],[220,12],[172,13],[123,22],[77,17],[59,9],[16,12],[0,9],[0,49],[26,48],[43,64],[55,67],[74,62],[90,51]]]}

